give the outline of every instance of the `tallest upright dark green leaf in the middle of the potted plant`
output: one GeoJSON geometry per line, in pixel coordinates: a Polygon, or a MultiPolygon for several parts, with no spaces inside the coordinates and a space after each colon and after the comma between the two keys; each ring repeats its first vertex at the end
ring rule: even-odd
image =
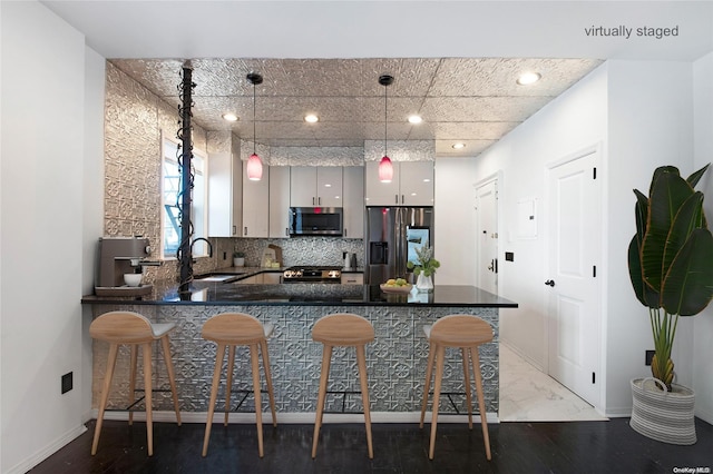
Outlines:
{"type": "Polygon", "coordinates": [[[648,199],[646,234],[641,255],[644,282],[661,293],[664,275],[668,271],[667,263],[664,261],[668,233],[678,208],[694,191],[678,175],[677,169],[673,172],[664,167],[656,171],[648,199]]]}

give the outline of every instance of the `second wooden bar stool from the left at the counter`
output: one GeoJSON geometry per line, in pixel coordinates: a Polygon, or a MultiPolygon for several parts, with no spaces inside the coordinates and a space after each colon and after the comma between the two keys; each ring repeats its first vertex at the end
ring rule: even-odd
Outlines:
{"type": "Polygon", "coordinates": [[[267,337],[272,334],[274,326],[272,323],[264,325],[254,316],[244,313],[223,313],[213,316],[203,325],[203,338],[217,343],[215,353],[215,369],[213,371],[213,385],[211,387],[211,405],[208,406],[208,419],[205,424],[205,438],[203,440],[203,456],[208,454],[208,440],[211,438],[211,426],[213,425],[213,414],[215,412],[215,399],[221,384],[221,372],[223,369],[223,357],[225,347],[228,348],[227,375],[225,388],[225,421],[231,405],[231,389],[233,386],[233,365],[235,363],[235,346],[248,346],[250,359],[253,371],[253,391],[255,394],[255,422],[257,424],[257,451],[263,457],[263,417],[260,406],[260,363],[257,347],[263,355],[263,368],[265,369],[265,381],[267,382],[267,395],[270,396],[270,409],[272,411],[272,425],[277,426],[275,416],[275,397],[272,389],[272,376],[270,375],[270,354],[267,354],[267,337]]]}

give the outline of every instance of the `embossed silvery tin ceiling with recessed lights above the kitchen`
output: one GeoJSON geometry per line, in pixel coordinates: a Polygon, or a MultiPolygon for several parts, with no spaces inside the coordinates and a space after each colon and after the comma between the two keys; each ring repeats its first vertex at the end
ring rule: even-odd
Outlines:
{"type": "MultiPolygon", "coordinates": [[[[177,107],[183,60],[113,59],[121,71],[177,107]]],[[[595,59],[411,58],[411,59],[195,59],[193,117],[207,130],[232,129],[253,139],[256,87],[257,142],[272,147],[363,147],[384,138],[434,140],[437,156],[476,156],[596,68],[595,59]],[[522,72],[541,75],[519,86],[522,72]],[[225,112],[238,121],[227,122],[225,112]],[[316,124],[304,121],[315,113],[316,124]],[[410,115],[423,121],[411,125],[410,115]],[[460,141],[463,149],[452,145],[460,141]]]]}

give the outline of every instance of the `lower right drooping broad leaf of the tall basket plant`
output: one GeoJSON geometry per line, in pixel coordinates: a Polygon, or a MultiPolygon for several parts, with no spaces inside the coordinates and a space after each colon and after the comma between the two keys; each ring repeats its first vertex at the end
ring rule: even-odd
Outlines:
{"type": "Polygon", "coordinates": [[[666,275],[663,307],[671,314],[693,316],[713,297],[713,235],[697,228],[683,245],[666,275]]]}

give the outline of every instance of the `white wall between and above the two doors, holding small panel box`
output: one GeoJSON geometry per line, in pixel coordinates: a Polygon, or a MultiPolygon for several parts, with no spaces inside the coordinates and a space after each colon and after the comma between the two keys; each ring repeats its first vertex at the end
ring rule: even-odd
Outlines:
{"type": "MultiPolygon", "coordinates": [[[[606,137],[606,65],[573,86],[526,122],[477,158],[477,179],[502,169],[499,197],[504,200],[500,241],[499,288],[518,303],[517,309],[501,312],[500,338],[538,367],[545,367],[546,243],[543,201],[545,166],[606,137]],[[516,237],[512,216],[524,198],[537,200],[538,235],[516,237]],[[505,261],[504,251],[515,254],[505,261]]],[[[476,180],[477,180],[476,179],[476,180]]]]}

